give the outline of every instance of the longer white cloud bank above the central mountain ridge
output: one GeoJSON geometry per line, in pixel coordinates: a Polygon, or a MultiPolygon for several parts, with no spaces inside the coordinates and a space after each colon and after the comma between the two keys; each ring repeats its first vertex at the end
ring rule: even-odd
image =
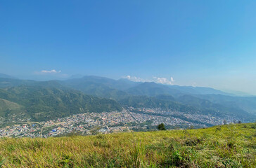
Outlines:
{"type": "Polygon", "coordinates": [[[160,78],[160,77],[156,77],[153,76],[152,79],[148,80],[148,79],[143,79],[143,78],[139,78],[136,76],[123,76],[123,78],[127,78],[129,80],[132,80],[134,82],[155,82],[155,83],[161,83],[161,84],[165,84],[165,85],[173,85],[174,83],[174,79],[171,78],[160,78]]]}

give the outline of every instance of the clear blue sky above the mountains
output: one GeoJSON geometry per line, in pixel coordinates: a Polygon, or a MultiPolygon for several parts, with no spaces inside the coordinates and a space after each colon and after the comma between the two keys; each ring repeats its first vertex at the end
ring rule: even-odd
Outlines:
{"type": "Polygon", "coordinates": [[[255,8],[235,0],[2,0],[0,73],[172,77],[256,94],[255,8]]]}

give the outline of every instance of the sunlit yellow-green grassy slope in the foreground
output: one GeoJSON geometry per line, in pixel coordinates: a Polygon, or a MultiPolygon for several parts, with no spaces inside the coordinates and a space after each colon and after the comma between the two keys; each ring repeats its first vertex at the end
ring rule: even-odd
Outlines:
{"type": "Polygon", "coordinates": [[[0,167],[256,167],[256,124],[0,139],[0,167]]]}

